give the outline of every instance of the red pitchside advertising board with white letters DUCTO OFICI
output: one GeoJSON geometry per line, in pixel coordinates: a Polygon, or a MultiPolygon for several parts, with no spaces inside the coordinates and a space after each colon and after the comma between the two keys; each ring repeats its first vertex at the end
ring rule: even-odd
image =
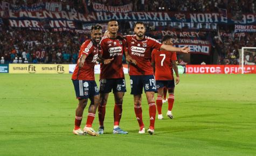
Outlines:
{"type": "MultiPolygon", "coordinates": [[[[186,73],[241,73],[240,65],[186,65],[186,73]]],[[[256,65],[244,65],[244,73],[256,73],[256,65]]]]}

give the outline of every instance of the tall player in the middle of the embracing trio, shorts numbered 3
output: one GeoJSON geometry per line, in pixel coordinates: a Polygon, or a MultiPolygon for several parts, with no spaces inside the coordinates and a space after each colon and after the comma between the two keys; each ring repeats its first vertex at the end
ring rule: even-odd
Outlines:
{"type": "Polygon", "coordinates": [[[122,56],[126,48],[126,40],[117,36],[119,29],[116,20],[108,22],[108,36],[102,38],[100,46],[102,53],[100,58],[100,104],[99,113],[99,134],[104,132],[104,118],[108,94],[113,90],[115,98],[114,106],[114,128],[113,133],[127,134],[119,127],[122,115],[123,95],[126,92],[126,83],[124,80],[122,56]]]}

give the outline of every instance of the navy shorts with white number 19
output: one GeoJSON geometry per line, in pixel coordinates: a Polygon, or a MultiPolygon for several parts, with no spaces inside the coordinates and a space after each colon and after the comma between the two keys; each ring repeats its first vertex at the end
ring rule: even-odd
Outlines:
{"type": "Polygon", "coordinates": [[[131,75],[130,76],[130,94],[138,95],[144,92],[156,92],[156,81],[154,75],[131,75]]]}

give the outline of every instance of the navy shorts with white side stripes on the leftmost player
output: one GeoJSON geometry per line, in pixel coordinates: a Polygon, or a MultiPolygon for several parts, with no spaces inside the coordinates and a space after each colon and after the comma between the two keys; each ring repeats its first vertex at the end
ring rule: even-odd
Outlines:
{"type": "Polygon", "coordinates": [[[77,99],[88,99],[99,95],[99,88],[94,80],[72,80],[77,99]]]}

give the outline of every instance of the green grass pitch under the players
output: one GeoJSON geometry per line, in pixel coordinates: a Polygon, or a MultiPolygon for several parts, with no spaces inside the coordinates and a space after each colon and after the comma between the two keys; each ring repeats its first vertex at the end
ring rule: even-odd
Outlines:
{"type": "MultiPolygon", "coordinates": [[[[0,74],[0,155],[256,155],[256,75],[181,75],[175,119],[165,116],[164,103],[165,118],[156,120],[152,136],[138,133],[129,76],[126,83],[120,125],[129,134],[112,134],[110,94],[106,134],[75,136],[71,75],[0,74]]],[[[144,94],[142,109],[147,130],[144,94]]],[[[87,108],[82,127],[86,116],[87,108]]]]}

